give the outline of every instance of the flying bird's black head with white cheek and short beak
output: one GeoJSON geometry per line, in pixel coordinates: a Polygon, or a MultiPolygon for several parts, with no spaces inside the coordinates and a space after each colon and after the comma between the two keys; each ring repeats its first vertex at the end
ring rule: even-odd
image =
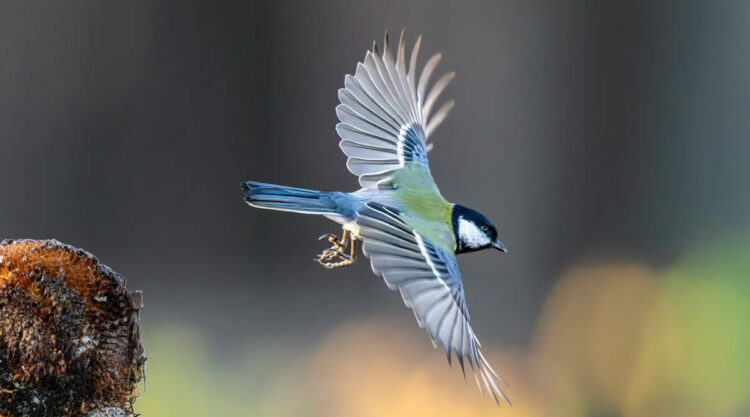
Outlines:
{"type": "Polygon", "coordinates": [[[456,253],[473,252],[490,247],[508,252],[497,239],[497,229],[482,213],[456,204],[453,206],[452,217],[456,253]]]}

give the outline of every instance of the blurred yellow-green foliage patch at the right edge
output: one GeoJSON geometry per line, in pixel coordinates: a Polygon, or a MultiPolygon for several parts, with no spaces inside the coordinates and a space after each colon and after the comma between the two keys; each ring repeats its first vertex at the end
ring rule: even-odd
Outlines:
{"type": "Polygon", "coordinates": [[[750,415],[748,249],[706,246],[660,279],[626,415],[750,415]]]}

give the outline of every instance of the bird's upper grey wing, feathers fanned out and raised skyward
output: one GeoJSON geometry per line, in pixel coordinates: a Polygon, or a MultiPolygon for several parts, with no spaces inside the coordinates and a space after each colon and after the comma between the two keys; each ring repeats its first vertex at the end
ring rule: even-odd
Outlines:
{"type": "Polygon", "coordinates": [[[432,117],[430,112],[454,73],[445,74],[427,93],[441,55],[435,54],[427,61],[417,82],[414,72],[421,39],[420,36],[414,45],[407,70],[404,33],[401,32],[395,60],[386,34],[383,52],[377,44],[367,51],[364,62],[357,63],[354,75],[347,75],[344,88],[339,90],[339,146],[349,157],[346,166],[359,176],[362,187],[377,188],[378,182],[407,162],[422,164],[429,170],[427,138],[453,108],[453,101],[432,117]]]}

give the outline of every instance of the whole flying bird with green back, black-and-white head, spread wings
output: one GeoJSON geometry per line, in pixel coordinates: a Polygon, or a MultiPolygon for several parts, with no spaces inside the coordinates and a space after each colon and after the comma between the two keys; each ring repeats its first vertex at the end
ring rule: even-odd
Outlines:
{"type": "Polygon", "coordinates": [[[481,213],[451,203],[431,174],[428,140],[454,106],[432,112],[438,97],[453,80],[449,72],[428,89],[441,54],[433,55],[417,78],[421,35],[407,67],[404,31],[395,57],[386,32],[384,48],[377,42],[346,75],[336,107],[339,147],[348,170],[358,177],[354,192],[316,191],[257,181],[241,183],[244,200],[253,207],[324,216],[342,225],[339,238],[315,258],[326,268],[356,261],[356,247],[370,260],[376,275],[398,290],[435,348],[451,354],[466,378],[466,361],[482,395],[489,392],[511,404],[500,384],[508,385],[489,364],[470,324],[456,256],[494,248],[508,252],[495,226],[481,213]]]}

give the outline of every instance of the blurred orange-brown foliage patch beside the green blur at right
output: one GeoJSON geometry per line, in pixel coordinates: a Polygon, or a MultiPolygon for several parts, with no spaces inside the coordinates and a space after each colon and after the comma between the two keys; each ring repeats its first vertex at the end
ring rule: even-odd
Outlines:
{"type": "Polygon", "coordinates": [[[629,264],[562,276],[540,317],[535,352],[550,411],[580,416],[620,408],[654,286],[651,270],[629,264]]]}

